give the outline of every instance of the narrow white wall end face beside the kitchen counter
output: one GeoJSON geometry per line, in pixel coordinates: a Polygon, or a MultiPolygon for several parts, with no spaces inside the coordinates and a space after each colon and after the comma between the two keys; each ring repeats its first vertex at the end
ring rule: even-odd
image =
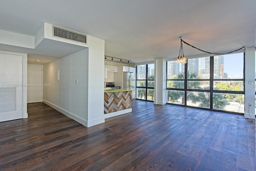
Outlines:
{"type": "Polygon", "coordinates": [[[105,41],[87,37],[88,56],[88,125],[105,122],[104,119],[104,53],[105,41]]]}

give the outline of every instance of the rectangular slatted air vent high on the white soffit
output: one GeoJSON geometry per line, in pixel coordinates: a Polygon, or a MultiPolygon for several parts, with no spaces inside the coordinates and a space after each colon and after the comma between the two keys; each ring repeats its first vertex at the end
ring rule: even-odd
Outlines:
{"type": "Polygon", "coordinates": [[[52,26],[52,36],[87,44],[87,36],[64,28],[52,26]]]}

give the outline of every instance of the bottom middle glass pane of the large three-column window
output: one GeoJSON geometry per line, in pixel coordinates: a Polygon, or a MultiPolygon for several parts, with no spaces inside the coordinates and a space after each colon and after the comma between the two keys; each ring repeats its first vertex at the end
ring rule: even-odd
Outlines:
{"type": "Polygon", "coordinates": [[[210,109],[210,92],[187,91],[187,105],[210,109]]]}

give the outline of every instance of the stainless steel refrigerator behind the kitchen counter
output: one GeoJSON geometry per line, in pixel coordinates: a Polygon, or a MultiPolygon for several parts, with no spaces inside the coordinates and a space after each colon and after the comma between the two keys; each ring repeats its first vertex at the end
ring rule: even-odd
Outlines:
{"type": "MultiPolygon", "coordinates": [[[[135,73],[124,72],[124,88],[135,89],[135,73]]],[[[135,98],[135,91],[132,91],[132,99],[135,98]]]]}

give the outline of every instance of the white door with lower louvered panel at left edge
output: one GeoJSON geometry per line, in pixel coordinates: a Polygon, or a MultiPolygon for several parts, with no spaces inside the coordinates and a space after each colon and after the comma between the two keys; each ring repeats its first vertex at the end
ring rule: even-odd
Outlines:
{"type": "Polygon", "coordinates": [[[22,56],[0,53],[0,122],[22,118],[22,56]]]}

